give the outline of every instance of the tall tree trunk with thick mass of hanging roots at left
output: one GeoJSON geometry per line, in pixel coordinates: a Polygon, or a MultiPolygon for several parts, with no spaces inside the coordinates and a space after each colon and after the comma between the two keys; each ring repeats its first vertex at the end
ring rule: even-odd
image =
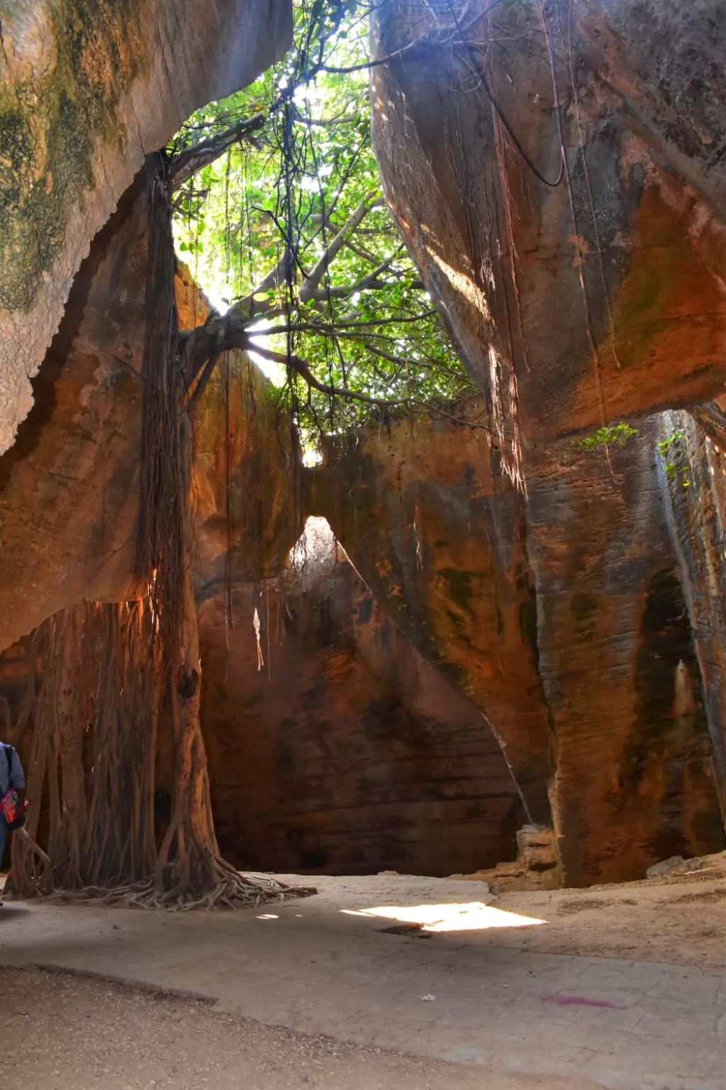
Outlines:
{"type": "Polygon", "coordinates": [[[192,445],[179,356],[171,201],[161,160],[158,172],[149,173],[135,550],[145,597],[119,605],[82,603],[49,622],[29,763],[32,802],[26,828],[15,837],[10,886],[20,896],[52,892],[145,905],[259,904],[313,891],[241,875],[217,845],[199,723],[192,445]],[[164,701],[174,791],[157,858],[153,777],[164,701]],[[44,797],[47,851],[37,844],[44,797]]]}

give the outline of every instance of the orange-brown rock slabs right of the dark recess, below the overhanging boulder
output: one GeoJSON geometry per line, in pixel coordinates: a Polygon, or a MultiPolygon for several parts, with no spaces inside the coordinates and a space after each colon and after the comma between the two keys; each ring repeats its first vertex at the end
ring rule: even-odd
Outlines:
{"type": "Polygon", "coordinates": [[[484,712],[540,821],[551,778],[569,885],[723,845],[659,435],[612,448],[612,471],[604,450],[529,451],[526,502],[448,423],[371,429],[311,473],[310,510],[484,712]]]}

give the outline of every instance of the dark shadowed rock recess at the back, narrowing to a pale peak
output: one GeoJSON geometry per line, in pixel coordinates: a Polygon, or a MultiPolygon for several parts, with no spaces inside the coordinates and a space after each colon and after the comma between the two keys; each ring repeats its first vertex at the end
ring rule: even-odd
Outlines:
{"type": "Polygon", "coordinates": [[[223,852],[264,870],[359,874],[513,859],[525,814],[481,713],[417,654],[329,530],[305,541],[284,594],[236,589],[232,630],[221,595],[200,605],[223,852]]]}

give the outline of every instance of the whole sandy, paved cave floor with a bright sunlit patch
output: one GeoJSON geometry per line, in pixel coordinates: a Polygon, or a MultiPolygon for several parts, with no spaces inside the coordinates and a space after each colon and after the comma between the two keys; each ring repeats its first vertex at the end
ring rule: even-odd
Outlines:
{"type": "Polygon", "coordinates": [[[234,912],[7,903],[0,1061],[27,1090],[723,1090],[723,876],[297,881],[234,912]]]}

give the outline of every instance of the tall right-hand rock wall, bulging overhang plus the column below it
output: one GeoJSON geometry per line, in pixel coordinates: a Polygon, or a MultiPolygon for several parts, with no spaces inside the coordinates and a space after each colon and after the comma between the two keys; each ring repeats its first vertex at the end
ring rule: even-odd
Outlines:
{"type": "MultiPolygon", "coordinates": [[[[418,45],[372,71],[377,154],[524,482],[564,879],[637,876],[665,843],[723,838],[721,499],[670,482],[664,506],[645,417],[726,379],[726,20],[707,2],[487,9],[453,43],[446,14],[379,10],[381,56],[418,45]],[[610,465],[563,441],[624,416],[641,434],[610,465]]],[[[703,443],[699,480],[717,472],[703,443]]]]}

